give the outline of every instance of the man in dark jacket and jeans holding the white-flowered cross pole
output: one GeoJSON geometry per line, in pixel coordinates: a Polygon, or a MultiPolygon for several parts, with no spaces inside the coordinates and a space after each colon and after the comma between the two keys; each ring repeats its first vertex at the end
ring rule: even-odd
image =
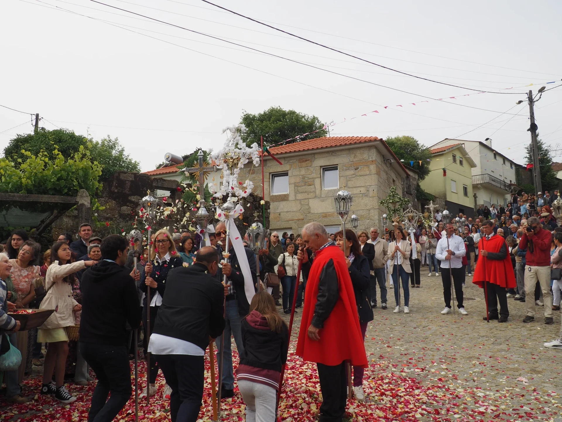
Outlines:
{"type": "MultiPolygon", "coordinates": [[[[224,232],[225,224],[220,222],[216,226],[216,232],[224,232]]],[[[232,239],[231,239],[232,240],[232,239]]],[[[221,242],[226,244],[226,237],[223,237],[221,242]]],[[[220,251],[221,252],[221,251],[220,251]]],[[[250,272],[252,274],[252,285],[255,284],[256,280],[256,257],[253,252],[244,248],[246,252],[245,257],[237,257],[232,243],[229,246],[229,263],[224,263],[223,267],[217,272],[217,276],[220,274],[219,280],[222,281],[223,276],[227,277],[226,287],[228,287],[228,294],[226,295],[226,308],[225,308],[225,318],[226,326],[224,328],[224,352],[223,352],[223,373],[220,374],[221,379],[221,397],[233,397],[234,396],[234,371],[232,369],[232,346],[230,337],[234,336],[234,341],[236,342],[236,348],[238,353],[242,353],[244,350],[244,345],[242,344],[242,318],[246,317],[250,313],[250,303],[246,298],[246,293],[244,291],[244,275],[242,274],[242,269],[240,267],[239,259],[246,259],[248,264],[250,264],[250,272]]],[[[223,254],[221,253],[221,258],[223,254]]],[[[217,351],[220,356],[220,345],[221,339],[216,339],[217,351]]]]}

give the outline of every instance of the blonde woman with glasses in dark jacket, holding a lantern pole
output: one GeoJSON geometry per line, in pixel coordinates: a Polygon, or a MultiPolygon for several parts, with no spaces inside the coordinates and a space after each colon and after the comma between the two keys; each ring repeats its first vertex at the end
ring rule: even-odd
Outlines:
{"type": "MultiPolygon", "coordinates": [[[[183,261],[179,257],[178,251],[175,248],[174,242],[172,241],[172,236],[167,230],[158,230],[154,236],[154,244],[150,251],[151,261],[147,262],[146,267],[144,267],[144,272],[147,274],[146,279],[144,279],[144,285],[142,285],[142,291],[145,296],[143,298],[143,311],[142,320],[144,326],[144,350],[148,348],[148,333],[146,327],[147,322],[147,306],[150,306],[150,332],[154,329],[154,323],[156,321],[156,316],[158,314],[158,309],[162,304],[162,298],[164,298],[164,291],[166,290],[166,278],[168,272],[175,267],[182,267],[183,261]],[[146,293],[150,288],[150,303],[147,303],[146,293]]],[[[158,363],[154,360],[150,360],[150,371],[149,380],[147,388],[140,394],[140,397],[146,397],[147,394],[153,396],[156,394],[156,376],[158,375],[158,363]]],[[[164,388],[164,398],[169,399],[171,394],[170,387],[166,384],[164,388]],[[166,397],[167,396],[167,397],[166,397]]]]}

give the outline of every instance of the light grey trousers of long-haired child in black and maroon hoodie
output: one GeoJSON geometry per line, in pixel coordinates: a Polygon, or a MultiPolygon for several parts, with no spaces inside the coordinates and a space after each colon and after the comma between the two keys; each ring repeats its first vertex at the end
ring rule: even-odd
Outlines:
{"type": "Polygon", "coordinates": [[[269,385],[238,380],[238,389],[246,403],[246,422],[273,422],[277,390],[269,385]]]}

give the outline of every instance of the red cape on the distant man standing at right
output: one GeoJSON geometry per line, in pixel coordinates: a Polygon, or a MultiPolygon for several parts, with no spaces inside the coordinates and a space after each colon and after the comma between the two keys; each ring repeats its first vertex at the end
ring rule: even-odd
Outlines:
{"type": "MultiPolygon", "coordinates": [[[[497,253],[500,252],[501,246],[504,244],[505,240],[502,236],[495,235],[492,236],[490,240],[486,240],[486,237],[482,237],[478,244],[478,249],[497,253]]],[[[484,288],[484,281],[490,281],[493,284],[507,289],[514,289],[516,287],[515,274],[511,266],[509,253],[502,261],[488,259],[479,255],[472,282],[484,288]]]]}

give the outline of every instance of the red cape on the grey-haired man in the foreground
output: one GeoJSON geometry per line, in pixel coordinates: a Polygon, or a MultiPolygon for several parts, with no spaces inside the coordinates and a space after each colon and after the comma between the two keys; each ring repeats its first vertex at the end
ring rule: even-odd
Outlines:
{"type": "Polygon", "coordinates": [[[337,246],[327,246],[315,254],[309,279],[306,282],[305,306],[302,309],[301,330],[298,334],[297,354],[303,360],[336,366],[351,360],[354,366],[367,366],[364,339],[361,336],[355,293],[343,252],[337,246]],[[308,336],[314,316],[320,273],[332,259],[338,275],[339,299],[324,327],[320,329],[320,341],[308,336]]]}

